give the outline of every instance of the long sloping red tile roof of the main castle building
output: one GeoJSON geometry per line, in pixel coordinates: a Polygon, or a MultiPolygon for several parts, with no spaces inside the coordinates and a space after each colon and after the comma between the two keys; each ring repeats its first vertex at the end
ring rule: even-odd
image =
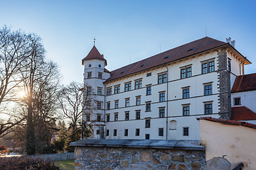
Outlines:
{"type": "Polygon", "coordinates": [[[140,72],[142,70],[156,67],[159,65],[164,65],[164,63],[174,62],[175,60],[179,60],[191,55],[196,55],[200,52],[204,52],[206,50],[210,50],[215,47],[220,47],[223,45],[229,45],[229,43],[223,42],[220,40],[215,40],[213,38],[208,38],[208,37],[201,38],[199,40],[189,42],[185,45],[175,47],[166,52],[161,52],[158,55],[148,57],[139,62],[134,62],[132,64],[121,67],[119,69],[115,69],[114,71],[111,72],[112,73],[111,77],[107,79],[107,81],[118,79],[120,77],[127,76],[128,74],[140,72]]]}

